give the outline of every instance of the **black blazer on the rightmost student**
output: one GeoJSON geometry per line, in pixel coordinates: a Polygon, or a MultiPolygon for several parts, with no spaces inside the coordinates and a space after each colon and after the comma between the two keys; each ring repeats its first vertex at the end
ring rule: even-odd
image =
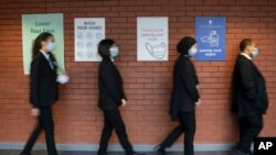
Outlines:
{"type": "Polygon", "coordinates": [[[257,66],[243,55],[236,59],[232,88],[232,111],[238,117],[254,117],[266,112],[268,99],[265,79],[257,66]]]}

